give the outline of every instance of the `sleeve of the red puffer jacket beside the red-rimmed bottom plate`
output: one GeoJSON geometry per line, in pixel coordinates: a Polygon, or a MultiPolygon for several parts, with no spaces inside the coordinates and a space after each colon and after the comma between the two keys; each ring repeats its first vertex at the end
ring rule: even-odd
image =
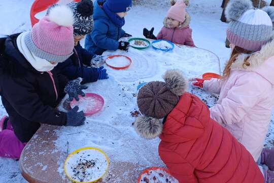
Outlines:
{"type": "Polygon", "coordinates": [[[160,157],[165,163],[170,173],[179,182],[197,183],[198,180],[194,175],[194,167],[184,158],[168,149],[160,149],[160,157]]]}

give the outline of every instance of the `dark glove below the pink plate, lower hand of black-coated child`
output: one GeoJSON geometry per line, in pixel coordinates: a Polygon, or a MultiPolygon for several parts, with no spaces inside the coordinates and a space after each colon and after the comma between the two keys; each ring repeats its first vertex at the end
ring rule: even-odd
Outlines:
{"type": "Polygon", "coordinates": [[[75,106],[72,110],[66,113],[66,124],[65,126],[78,127],[84,125],[86,117],[83,111],[77,112],[79,110],[78,106],[75,106]]]}

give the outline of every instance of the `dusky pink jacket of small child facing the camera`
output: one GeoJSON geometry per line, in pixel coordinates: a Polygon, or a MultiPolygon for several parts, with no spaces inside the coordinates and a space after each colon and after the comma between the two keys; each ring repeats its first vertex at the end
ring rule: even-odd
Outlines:
{"type": "Polygon", "coordinates": [[[181,28],[167,28],[166,19],[164,20],[164,26],[157,35],[157,39],[168,40],[176,44],[192,46],[194,43],[192,40],[192,29],[189,28],[190,16],[186,13],[186,20],[181,28]]]}

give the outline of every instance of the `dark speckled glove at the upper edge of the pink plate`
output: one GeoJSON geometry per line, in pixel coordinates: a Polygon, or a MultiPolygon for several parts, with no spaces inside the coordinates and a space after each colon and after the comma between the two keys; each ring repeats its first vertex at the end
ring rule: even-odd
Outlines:
{"type": "Polygon", "coordinates": [[[77,78],[75,80],[67,82],[64,88],[64,92],[68,94],[68,100],[72,101],[73,98],[75,98],[75,100],[79,101],[78,95],[81,95],[82,97],[85,96],[85,93],[82,92],[82,89],[87,89],[88,87],[85,85],[81,85],[81,81],[82,78],[77,78]]]}

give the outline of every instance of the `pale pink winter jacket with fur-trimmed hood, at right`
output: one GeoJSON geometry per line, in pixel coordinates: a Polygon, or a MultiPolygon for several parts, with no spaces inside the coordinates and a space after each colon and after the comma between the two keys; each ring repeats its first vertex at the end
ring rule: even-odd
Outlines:
{"type": "Polygon", "coordinates": [[[203,89],[219,94],[211,117],[226,127],[258,160],[264,145],[274,99],[274,41],[249,58],[239,55],[228,79],[204,81],[203,89]]]}

